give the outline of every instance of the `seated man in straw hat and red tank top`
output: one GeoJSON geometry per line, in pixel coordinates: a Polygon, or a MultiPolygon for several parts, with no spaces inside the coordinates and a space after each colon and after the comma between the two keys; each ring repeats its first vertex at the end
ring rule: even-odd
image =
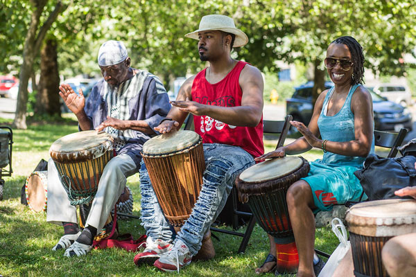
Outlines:
{"type": "MultiPolygon", "coordinates": [[[[135,256],[135,264],[154,262],[163,271],[179,271],[189,265],[223,209],[234,179],[264,152],[263,78],[259,69],[230,55],[233,47],[247,44],[247,35],[235,27],[232,18],[207,15],[202,17],[198,30],[185,37],[198,40],[200,60],[209,62],[209,66],[184,82],[168,116],[156,129],[162,134],[173,132],[189,113],[193,114],[195,131],[202,136],[206,170],[191,216],[173,240],[158,231],[166,220],[153,220],[161,210],[142,164],[141,220],[148,240],[144,252],[135,256]]],[[[211,240],[205,240],[205,244],[211,247],[207,247],[205,256],[198,253],[198,258],[214,257],[211,240]]]]}

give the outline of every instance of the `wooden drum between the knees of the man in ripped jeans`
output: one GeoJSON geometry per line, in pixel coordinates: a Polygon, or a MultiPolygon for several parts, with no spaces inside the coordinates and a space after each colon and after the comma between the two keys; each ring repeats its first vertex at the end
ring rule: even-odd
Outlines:
{"type": "Polygon", "coordinates": [[[161,134],[144,143],[141,156],[166,219],[182,226],[202,188],[202,139],[193,131],[161,134]]]}

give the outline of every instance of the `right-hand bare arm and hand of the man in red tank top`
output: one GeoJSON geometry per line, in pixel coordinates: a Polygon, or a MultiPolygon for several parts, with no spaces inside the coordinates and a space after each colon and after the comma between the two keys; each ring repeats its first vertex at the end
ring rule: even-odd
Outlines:
{"type": "Polygon", "coordinates": [[[242,91],[240,106],[203,105],[192,101],[191,96],[173,101],[172,105],[180,111],[196,116],[209,116],[228,125],[255,127],[263,112],[263,78],[259,69],[245,65],[239,77],[239,85],[242,91]]]}

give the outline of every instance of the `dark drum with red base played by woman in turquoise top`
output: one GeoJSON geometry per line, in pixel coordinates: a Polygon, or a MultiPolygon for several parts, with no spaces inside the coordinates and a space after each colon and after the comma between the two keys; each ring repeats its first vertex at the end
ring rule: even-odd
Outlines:
{"type": "Polygon", "coordinates": [[[297,271],[299,258],[289,219],[286,192],[309,172],[302,157],[271,159],[241,172],[236,179],[239,199],[248,203],[261,228],[275,238],[277,271],[297,271]]]}

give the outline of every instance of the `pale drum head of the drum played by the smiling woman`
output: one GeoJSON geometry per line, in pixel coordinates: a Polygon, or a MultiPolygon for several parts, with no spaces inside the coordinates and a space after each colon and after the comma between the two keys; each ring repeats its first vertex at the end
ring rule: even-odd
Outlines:
{"type": "Polygon", "coordinates": [[[244,170],[239,178],[246,183],[268,181],[288,175],[299,169],[303,163],[304,161],[300,157],[294,156],[271,159],[244,170]]]}

